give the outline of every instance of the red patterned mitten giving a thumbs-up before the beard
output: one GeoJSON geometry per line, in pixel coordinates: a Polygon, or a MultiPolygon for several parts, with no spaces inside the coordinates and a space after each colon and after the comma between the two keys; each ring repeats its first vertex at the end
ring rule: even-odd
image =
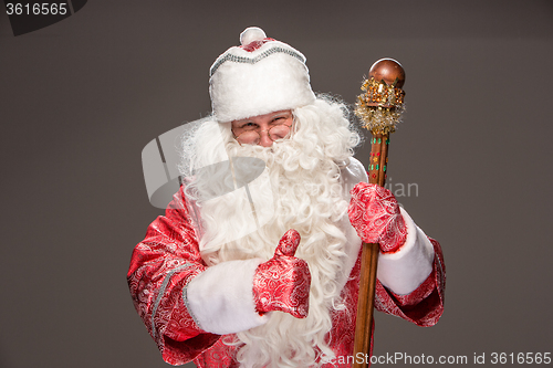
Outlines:
{"type": "Polygon", "coordinates": [[[298,231],[286,231],[274,256],[255,270],[253,301],[259,314],[281,311],[296,318],[307,316],[311,273],[307,262],[294,256],[300,239],[298,231]]]}

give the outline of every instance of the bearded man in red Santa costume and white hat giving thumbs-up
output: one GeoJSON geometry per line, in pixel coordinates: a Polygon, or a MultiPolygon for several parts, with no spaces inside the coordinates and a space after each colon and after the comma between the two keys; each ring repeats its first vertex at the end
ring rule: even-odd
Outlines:
{"type": "Polygon", "coordinates": [[[247,29],[210,95],[182,139],[184,183],[128,271],[165,361],[349,367],[362,241],[380,245],[376,308],[436,324],[440,246],[366,183],[347,109],[313,94],[303,54],[247,29]]]}

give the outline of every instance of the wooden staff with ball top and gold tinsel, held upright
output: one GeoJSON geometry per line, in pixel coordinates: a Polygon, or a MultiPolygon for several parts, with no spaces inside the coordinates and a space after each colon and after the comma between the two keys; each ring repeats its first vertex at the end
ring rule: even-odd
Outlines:
{"type": "MultiPolygon", "coordinates": [[[[382,59],[371,66],[368,78],[361,87],[365,93],[357,97],[355,114],[361,118],[363,127],[373,135],[368,181],[380,187],[384,187],[387,176],[389,135],[395,132],[404,112],[404,83],[405,72],[401,65],[393,59],[382,59]]],[[[378,244],[363,243],[354,368],[368,367],[369,364],[378,253],[378,244]],[[359,354],[363,354],[363,359],[358,359],[359,354]]]]}

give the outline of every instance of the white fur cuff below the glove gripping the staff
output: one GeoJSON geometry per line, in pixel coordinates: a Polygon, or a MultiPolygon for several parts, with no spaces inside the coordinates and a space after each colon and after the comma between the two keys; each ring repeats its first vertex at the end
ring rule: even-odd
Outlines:
{"type": "Polygon", "coordinates": [[[376,276],[394,293],[406,295],[432,272],[434,246],[409,214],[403,208],[400,211],[407,225],[407,239],[396,253],[380,253],[376,276]]]}

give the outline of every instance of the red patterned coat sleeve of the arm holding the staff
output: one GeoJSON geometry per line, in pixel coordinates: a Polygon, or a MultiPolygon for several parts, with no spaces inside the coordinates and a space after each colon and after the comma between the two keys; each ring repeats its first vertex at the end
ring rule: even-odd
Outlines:
{"type": "Polygon", "coordinates": [[[444,293],[446,288],[446,265],[440,244],[430,239],[434,245],[435,257],[432,272],[414,292],[407,295],[397,295],[376,282],[375,308],[418,326],[436,325],[444,313],[444,293]]]}

